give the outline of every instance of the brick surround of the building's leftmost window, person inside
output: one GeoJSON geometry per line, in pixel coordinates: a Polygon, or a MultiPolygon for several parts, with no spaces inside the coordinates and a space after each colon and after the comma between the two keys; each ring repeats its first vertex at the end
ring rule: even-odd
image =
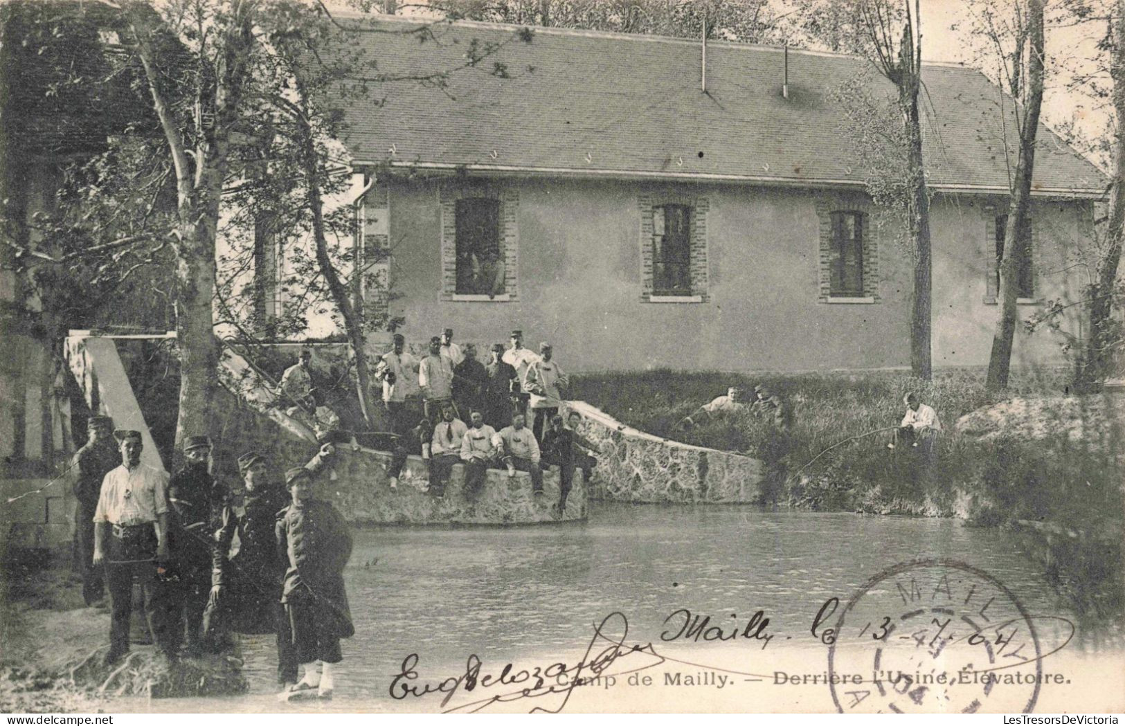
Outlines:
{"type": "Polygon", "coordinates": [[[444,184],[441,207],[441,300],[453,302],[513,302],[519,299],[520,193],[492,183],[444,184]],[[500,202],[500,249],[504,257],[504,292],[495,296],[457,292],[457,201],[495,199],[500,202]]]}

